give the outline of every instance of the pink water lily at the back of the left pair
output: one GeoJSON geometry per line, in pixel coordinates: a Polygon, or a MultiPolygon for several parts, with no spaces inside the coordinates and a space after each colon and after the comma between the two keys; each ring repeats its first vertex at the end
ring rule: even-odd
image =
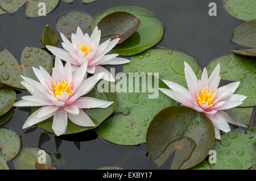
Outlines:
{"type": "Polygon", "coordinates": [[[125,58],[117,57],[118,54],[106,54],[115,47],[119,39],[112,41],[109,39],[100,44],[101,31],[98,30],[98,27],[94,28],[90,37],[87,33],[84,35],[80,27],[77,27],[76,34],[72,33],[71,36],[72,43],[62,33],[60,35],[63,40],[62,47],[64,49],[52,46],[46,47],[55,56],[70,62],[73,71],[77,70],[83,64],[88,64],[88,73],[97,74],[104,72],[103,78],[106,81],[114,82],[113,75],[101,65],[119,65],[130,62],[125,58]]]}

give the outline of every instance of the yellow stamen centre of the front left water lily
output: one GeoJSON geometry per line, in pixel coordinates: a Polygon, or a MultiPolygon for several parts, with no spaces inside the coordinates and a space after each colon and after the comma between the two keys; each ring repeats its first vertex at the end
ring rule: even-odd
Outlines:
{"type": "Polygon", "coordinates": [[[60,98],[60,95],[63,92],[67,92],[68,96],[71,96],[72,90],[71,90],[71,82],[67,82],[65,79],[61,78],[61,81],[58,81],[57,83],[54,82],[54,87],[49,87],[49,89],[53,92],[53,94],[56,96],[57,99],[60,98]]]}

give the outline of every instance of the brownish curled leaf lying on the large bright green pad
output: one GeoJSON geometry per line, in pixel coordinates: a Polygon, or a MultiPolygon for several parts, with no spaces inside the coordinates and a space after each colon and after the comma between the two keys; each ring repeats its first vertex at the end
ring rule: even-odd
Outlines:
{"type": "Polygon", "coordinates": [[[141,21],[133,14],[117,11],[102,18],[98,23],[98,28],[101,30],[102,38],[120,38],[118,41],[118,44],[120,44],[133,35],[140,24],[141,21]]]}

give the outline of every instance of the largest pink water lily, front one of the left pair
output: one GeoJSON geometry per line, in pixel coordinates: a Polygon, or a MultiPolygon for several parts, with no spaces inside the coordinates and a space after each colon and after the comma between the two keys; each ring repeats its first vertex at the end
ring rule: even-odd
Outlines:
{"type": "Polygon", "coordinates": [[[40,67],[40,69],[33,68],[39,82],[22,76],[24,81],[21,83],[31,95],[23,96],[14,106],[42,106],[28,117],[23,129],[51,116],[53,116],[52,129],[57,136],[65,133],[68,119],[81,127],[94,127],[95,124],[82,109],[106,108],[113,102],[84,96],[93,89],[104,74],[98,73],[84,79],[86,69],[87,63],[72,73],[71,64],[67,62],[63,66],[60,58],[56,57],[52,75],[40,67]]]}

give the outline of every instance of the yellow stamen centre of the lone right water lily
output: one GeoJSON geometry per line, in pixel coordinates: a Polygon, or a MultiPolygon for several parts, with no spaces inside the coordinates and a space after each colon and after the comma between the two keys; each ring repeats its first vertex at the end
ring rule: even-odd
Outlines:
{"type": "Polygon", "coordinates": [[[197,95],[196,95],[197,103],[199,103],[199,105],[208,104],[209,107],[212,107],[214,102],[217,101],[216,100],[213,102],[213,99],[215,98],[216,93],[217,93],[217,91],[212,92],[212,89],[210,89],[208,91],[208,87],[206,89],[203,89],[201,91],[201,94],[200,94],[200,92],[197,91],[197,95]]]}

